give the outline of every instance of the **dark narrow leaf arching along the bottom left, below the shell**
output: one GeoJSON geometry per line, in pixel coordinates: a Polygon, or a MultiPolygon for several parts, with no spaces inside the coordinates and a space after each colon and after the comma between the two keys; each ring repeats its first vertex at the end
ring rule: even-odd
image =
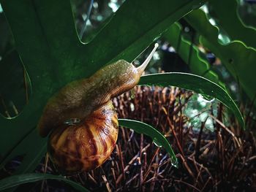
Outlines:
{"type": "Polygon", "coordinates": [[[83,191],[83,192],[89,191],[86,188],[83,188],[83,186],[79,185],[78,183],[75,183],[72,180],[67,180],[64,177],[53,175],[53,174],[41,174],[41,173],[17,174],[11,177],[4,178],[3,180],[0,180],[0,191],[3,191],[7,188],[13,188],[25,183],[33,183],[39,180],[60,180],[72,186],[72,188],[74,188],[76,191],[83,191]]]}

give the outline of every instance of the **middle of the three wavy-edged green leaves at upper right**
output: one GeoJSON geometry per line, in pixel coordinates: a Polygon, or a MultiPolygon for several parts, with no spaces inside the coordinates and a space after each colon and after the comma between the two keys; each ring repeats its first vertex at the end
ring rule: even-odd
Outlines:
{"type": "Polygon", "coordinates": [[[256,95],[255,49],[246,47],[246,45],[240,41],[233,41],[227,45],[219,42],[219,29],[211,25],[203,10],[195,10],[185,18],[189,24],[202,35],[200,42],[222,60],[233,77],[241,83],[241,87],[244,88],[249,98],[253,99],[256,95]]]}

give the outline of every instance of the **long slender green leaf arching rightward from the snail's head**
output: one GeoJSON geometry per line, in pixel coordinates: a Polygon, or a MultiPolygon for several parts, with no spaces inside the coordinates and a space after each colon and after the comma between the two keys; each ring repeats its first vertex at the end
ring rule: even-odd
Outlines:
{"type": "Polygon", "coordinates": [[[190,91],[195,91],[196,93],[212,96],[221,101],[222,104],[225,104],[225,106],[227,106],[234,115],[236,115],[241,127],[245,128],[244,118],[238,110],[235,101],[233,101],[227,91],[215,82],[211,82],[204,77],[187,73],[148,74],[140,78],[139,85],[172,85],[190,91]]]}

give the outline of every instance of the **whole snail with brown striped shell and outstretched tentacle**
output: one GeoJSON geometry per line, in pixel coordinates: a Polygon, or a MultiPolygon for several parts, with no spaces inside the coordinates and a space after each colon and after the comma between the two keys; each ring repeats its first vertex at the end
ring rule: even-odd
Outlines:
{"type": "Polygon", "coordinates": [[[70,82],[49,99],[37,128],[42,137],[50,133],[48,154],[60,173],[89,172],[108,159],[118,137],[111,99],[138,84],[157,47],[138,68],[116,61],[89,78],[70,82]]]}

